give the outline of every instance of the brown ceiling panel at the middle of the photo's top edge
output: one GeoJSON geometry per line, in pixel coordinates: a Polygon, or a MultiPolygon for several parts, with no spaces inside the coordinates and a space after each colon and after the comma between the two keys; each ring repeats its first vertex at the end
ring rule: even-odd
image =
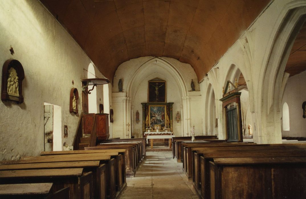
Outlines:
{"type": "Polygon", "coordinates": [[[146,25],[167,24],[170,2],[153,0],[144,2],[144,22],[146,25]],[[158,14],[157,14],[158,13],[158,14]]]}

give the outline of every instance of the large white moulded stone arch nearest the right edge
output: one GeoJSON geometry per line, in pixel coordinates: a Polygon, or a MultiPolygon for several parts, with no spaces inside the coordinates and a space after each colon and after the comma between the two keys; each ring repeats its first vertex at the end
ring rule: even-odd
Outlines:
{"type": "Polygon", "coordinates": [[[259,115],[259,131],[256,143],[282,143],[281,131],[281,102],[285,84],[289,74],[285,73],[285,66],[289,52],[293,46],[298,31],[305,21],[305,1],[293,1],[285,5],[279,15],[270,41],[273,42],[264,63],[265,67],[259,77],[262,77],[261,104],[259,115]]]}

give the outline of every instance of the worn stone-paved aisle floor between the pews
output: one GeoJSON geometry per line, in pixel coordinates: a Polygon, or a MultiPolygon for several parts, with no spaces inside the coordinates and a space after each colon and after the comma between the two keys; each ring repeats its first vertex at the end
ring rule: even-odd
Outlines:
{"type": "Polygon", "coordinates": [[[120,199],[195,199],[198,198],[182,170],[182,163],[172,159],[171,151],[148,151],[120,199]]]}

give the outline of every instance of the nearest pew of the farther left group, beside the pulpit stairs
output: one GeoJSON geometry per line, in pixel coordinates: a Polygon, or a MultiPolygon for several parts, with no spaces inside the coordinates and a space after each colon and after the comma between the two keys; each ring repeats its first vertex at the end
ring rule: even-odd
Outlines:
{"type": "Polygon", "coordinates": [[[135,144],[114,144],[114,145],[99,145],[96,147],[85,147],[85,150],[104,150],[104,149],[125,149],[125,165],[126,177],[134,177],[136,169],[138,168],[136,161],[136,147],[135,144]]]}

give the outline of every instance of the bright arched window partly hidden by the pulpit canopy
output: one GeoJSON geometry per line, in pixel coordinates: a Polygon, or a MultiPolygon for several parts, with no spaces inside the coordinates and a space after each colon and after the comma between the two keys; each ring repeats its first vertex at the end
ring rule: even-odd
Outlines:
{"type": "MultiPolygon", "coordinates": [[[[95,77],[95,68],[92,63],[88,66],[87,78],[96,78],[95,77]]],[[[89,85],[88,90],[92,89],[93,86],[89,85]]],[[[88,113],[97,113],[97,89],[93,89],[91,94],[88,94],[88,113]]]]}

